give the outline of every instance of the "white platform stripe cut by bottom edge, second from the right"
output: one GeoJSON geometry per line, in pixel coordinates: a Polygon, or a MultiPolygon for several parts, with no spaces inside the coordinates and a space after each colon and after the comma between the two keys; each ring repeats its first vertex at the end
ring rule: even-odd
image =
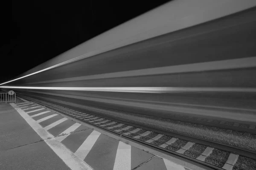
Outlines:
{"type": "Polygon", "coordinates": [[[131,170],[131,145],[119,141],[113,170],[131,170]]]}

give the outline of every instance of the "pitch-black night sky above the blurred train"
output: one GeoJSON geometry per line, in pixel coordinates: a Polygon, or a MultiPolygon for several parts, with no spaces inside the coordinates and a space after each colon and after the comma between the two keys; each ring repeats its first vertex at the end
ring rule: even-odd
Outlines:
{"type": "Polygon", "coordinates": [[[13,79],[168,0],[9,2],[1,7],[5,10],[1,14],[0,82],[13,79]]]}

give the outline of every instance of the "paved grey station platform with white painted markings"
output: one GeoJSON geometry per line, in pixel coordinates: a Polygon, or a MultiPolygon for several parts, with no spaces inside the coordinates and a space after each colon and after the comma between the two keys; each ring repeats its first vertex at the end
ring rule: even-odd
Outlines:
{"type": "MultiPolygon", "coordinates": [[[[32,102],[0,104],[3,170],[205,170],[32,102]]],[[[208,169],[208,168],[207,168],[208,169]]]]}

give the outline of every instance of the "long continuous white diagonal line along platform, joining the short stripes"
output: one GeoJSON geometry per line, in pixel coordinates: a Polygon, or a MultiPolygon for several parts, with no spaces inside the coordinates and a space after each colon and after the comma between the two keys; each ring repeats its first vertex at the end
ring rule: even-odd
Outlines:
{"type": "Polygon", "coordinates": [[[64,161],[71,170],[93,170],[86,162],[81,161],[61,142],[58,142],[55,137],[41,127],[34,119],[26,112],[20,110],[14,103],[10,103],[13,108],[26,120],[26,122],[35,130],[36,133],[44,140],[44,142],[64,161]]]}

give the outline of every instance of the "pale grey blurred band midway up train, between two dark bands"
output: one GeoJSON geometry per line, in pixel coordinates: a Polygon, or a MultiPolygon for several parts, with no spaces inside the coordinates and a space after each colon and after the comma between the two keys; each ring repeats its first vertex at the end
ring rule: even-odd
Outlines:
{"type": "Polygon", "coordinates": [[[41,83],[52,83],[52,82],[70,82],[70,81],[82,81],[91,79],[110,79],[119,77],[135,77],[135,76],[151,76],[160,74],[175,74],[175,73],[187,73],[187,72],[197,72],[197,71],[215,71],[224,69],[235,69],[235,68],[253,68],[256,67],[256,57],[246,57],[240,59],[227,59],[221,61],[211,61],[211,62],[199,62],[184,65],[172,65],[157,68],[145,68],[140,70],[131,71],[120,71],[114,73],[96,74],[90,76],[81,77],[70,77],[64,79],[54,79],[46,80],[41,82],[29,82],[27,85],[31,84],[41,84],[41,83]]]}

